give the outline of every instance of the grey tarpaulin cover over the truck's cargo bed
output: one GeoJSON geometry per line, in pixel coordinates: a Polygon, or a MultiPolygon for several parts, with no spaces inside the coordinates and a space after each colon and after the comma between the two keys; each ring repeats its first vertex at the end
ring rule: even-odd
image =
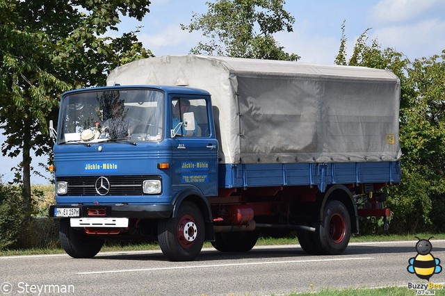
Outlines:
{"type": "Polygon", "coordinates": [[[211,93],[221,163],[396,161],[400,81],[382,69],[217,56],[162,56],[107,84],[211,93]]]}

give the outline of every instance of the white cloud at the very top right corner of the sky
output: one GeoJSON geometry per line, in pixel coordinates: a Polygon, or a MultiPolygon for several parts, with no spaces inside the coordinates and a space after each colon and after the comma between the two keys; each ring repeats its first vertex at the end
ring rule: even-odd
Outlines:
{"type": "Polygon", "coordinates": [[[371,8],[371,19],[377,23],[403,22],[443,4],[443,0],[380,0],[371,8]]]}

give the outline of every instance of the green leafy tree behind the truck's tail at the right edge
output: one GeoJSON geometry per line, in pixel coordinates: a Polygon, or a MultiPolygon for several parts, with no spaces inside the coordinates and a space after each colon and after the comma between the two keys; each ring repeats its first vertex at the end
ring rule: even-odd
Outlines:
{"type": "MultiPolygon", "coordinates": [[[[423,209],[421,227],[444,231],[445,211],[445,51],[430,58],[417,58],[407,68],[405,106],[401,109],[403,184],[397,202],[416,213],[423,209]],[[418,202],[419,200],[419,202],[418,202]]],[[[394,188],[395,189],[395,188],[394,188]]],[[[406,222],[413,225],[407,215],[406,222]]],[[[414,222],[416,219],[414,219],[414,222]]],[[[419,221],[420,222],[420,221],[419,221]]],[[[409,229],[414,231],[414,229],[409,229]]],[[[423,230],[423,229],[421,229],[423,230]]]]}

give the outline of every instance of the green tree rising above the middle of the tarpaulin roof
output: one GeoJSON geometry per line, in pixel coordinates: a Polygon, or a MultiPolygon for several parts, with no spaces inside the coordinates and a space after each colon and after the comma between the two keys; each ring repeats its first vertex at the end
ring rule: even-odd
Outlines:
{"type": "Polygon", "coordinates": [[[295,19],[284,10],[284,3],[284,0],[207,2],[207,13],[194,13],[191,24],[181,24],[183,30],[202,31],[209,39],[207,43],[199,42],[191,54],[298,60],[298,55],[284,52],[284,47],[273,38],[275,33],[293,30],[295,19]]]}

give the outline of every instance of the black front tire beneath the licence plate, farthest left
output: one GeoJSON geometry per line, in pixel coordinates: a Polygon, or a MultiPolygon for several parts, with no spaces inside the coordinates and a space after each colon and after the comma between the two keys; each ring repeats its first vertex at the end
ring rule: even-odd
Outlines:
{"type": "Polygon", "coordinates": [[[70,227],[70,219],[60,220],[60,245],[73,258],[92,258],[99,253],[105,240],[88,236],[83,229],[70,227]]]}

